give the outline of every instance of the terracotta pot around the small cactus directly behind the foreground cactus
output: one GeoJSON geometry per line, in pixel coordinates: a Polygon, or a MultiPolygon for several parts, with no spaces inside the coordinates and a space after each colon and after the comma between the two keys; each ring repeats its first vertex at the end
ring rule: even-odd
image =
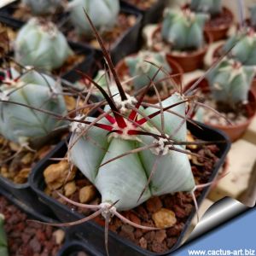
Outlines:
{"type": "MultiPolygon", "coordinates": [[[[135,55],[136,54],[130,55],[130,56],[135,56],[135,55]]],[[[168,60],[167,58],[166,58],[166,61],[168,62],[169,66],[172,68],[172,73],[170,73],[170,75],[173,76],[174,82],[178,85],[182,84],[182,80],[183,80],[182,67],[180,67],[176,61],[168,60]]],[[[115,69],[120,78],[123,78],[125,75],[129,75],[129,68],[126,66],[124,60],[119,61],[119,63],[116,65],[115,69]]],[[[164,96],[163,98],[161,98],[161,100],[165,100],[169,96],[171,96],[171,93],[164,96]]],[[[158,99],[157,99],[157,96],[147,96],[146,95],[144,98],[144,102],[155,104],[155,103],[158,103],[158,99]]]]}

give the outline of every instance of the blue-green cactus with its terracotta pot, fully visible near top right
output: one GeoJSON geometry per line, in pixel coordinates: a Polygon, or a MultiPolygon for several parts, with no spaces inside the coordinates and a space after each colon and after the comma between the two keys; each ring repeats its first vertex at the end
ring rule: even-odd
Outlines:
{"type": "Polygon", "coordinates": [[[184,72],[203,66],[209,33],[203,32],[208,15],[189,9],[166,9],[163,23],[153,33],[153,49],[166,52],[166,58],[177,61],[184,72]]]}

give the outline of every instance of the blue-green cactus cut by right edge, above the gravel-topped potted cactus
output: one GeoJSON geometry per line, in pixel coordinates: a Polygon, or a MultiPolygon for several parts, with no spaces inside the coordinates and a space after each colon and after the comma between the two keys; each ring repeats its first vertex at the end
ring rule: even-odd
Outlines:
{"type": "Polygon", "coordinates": [[[242,65],[256,65],[256,33],[249,30],[246,34],[240,32],[231,37],[223,47],[224,52],[229,50],[231,58],[240,61],[242,65]]]}

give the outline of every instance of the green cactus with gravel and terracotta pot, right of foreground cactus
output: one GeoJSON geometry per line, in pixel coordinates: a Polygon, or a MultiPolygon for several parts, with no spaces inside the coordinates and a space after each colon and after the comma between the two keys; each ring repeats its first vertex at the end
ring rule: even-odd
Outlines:
{"type": "MultiPolygon", "coordinates": [[[[255,115],[256,98],[251,90],[255,72],[255,67],[243,66],[233,59],[220,62],[200,84],[201,96],[207,106],[220,114],[199,107],[195,119],[218,127],[233,142],[240,138],[255,115]]],[[[194,82],[190,82],[187,89],[194,82]]]]}

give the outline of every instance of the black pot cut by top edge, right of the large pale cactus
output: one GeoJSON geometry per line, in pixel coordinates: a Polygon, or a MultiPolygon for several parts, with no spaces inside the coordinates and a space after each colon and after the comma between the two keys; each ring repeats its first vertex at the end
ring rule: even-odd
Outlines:
{"type": "Polygon", "coordinates": [[[128,1],[121,0],[121,3],[125,7],[135,9],[143,15],[142,25],[146,26],[148,24],[158,23],[163,17],[163,11],[166,8],[166,0],[156,0],[151,8],[149,9],[139,9],[136,5],[128,3],[128,1]]]}

